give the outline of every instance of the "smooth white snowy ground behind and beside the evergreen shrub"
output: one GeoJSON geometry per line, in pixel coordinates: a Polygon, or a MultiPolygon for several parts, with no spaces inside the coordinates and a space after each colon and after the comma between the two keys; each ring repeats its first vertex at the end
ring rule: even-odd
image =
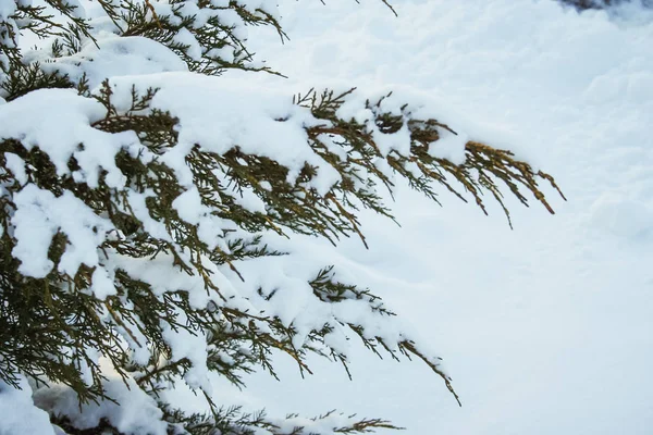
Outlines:
{"type": "Polygon", "coordinates": [[[651,15],[394,3],[399,17],[373,0],[284,0],[292,40],[251,38],[297,91],[347,83],[438,97],[554,174],[568,202],[550,194],[555,216],[509,202],[510,231],[497,207],[485,217],[444,194],[441,209],[402,191],[402,228],[366,216],[370,251],[350,240],[329,253],[439,350],[463,408],[422,364],[362,351],[353,382],[320,361],[301,381],[288,362],[282,383],[252,376],[242,400],[380,415],[407,434],[653,433],[651,15]]]}

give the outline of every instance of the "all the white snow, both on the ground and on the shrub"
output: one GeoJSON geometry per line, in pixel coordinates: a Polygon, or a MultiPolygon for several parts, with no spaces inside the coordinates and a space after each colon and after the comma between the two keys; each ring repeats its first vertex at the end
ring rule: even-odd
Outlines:
{"type": "MultiPolygon", "coordinates": [[[[308,328],[316,321],[313,316],[323,315],[320,310],[325,309],[307,302],[309,269],[335,263],[343,282],[368,285],[411,323],[404,331],[414,337],[419,335],[422,343],[445,358],[463,399],[461,409],[423,364],[415,361],[399,366],[379,361],[362,349],[349,349],[343,340],[345,332],[329,340],[348,349],[353,382],[340,366],[322,360],[312,361],[316,375],[301,381],[296,364],[280,358],[282,383],[257,374],[246,378],[246,390],[237,391],[223,380],[213,380],[215,401],[237,401],[251,409],[267,407],[269,413],[279,415],[315,415],[337,408],[389,418],[407,426],[409,434],[650,434],[653,16],[633,8],[611,14],[578,14],[547,0],[405,0],[395,4],[398,18],[372,0],[362,4],[350,0],[330,0],[326,5],[291,0],[280,3],[282,25],[292,40],[280,46],[269,29],[249,29],[249,40],[260,58],[268,59],[289,79],[238,73],[226,74],[214,83],[198,78],[180,84],[175,77],[186,77],[182,73],[185,69],[169,50],[149,47],[149,41],[138,38],[115,40],[110,34],[101,39],[100,51],[85,48],[81,60],[88,62],[62,64],[70,66],[72,76],[82,71],[89,73],[94,87],[102,74],[123,76],[112,79],[116,101],[128,94],[132,83],[160,85],[155,104],[180,116],[182,145],[200,140],[220,151],[229,145],[223,138],[234,135],[231,139],[261,151],[258,145],[267,137],[254,128],[241,128],[254,119],[274,135],[285,137],[287,144],[296,144],[285,151],[281,147],[270,151],[291,167],[315,159],[299,147],[304,139],[299,127],[311,119],[287,102],[280,103],[282,96],[313,86],[359,86],[359,96],[381,96],[396,89],[396,102],[406,98],[405,102],[417,104],[417,113],[433,114],[460,134],[444,138],[431,152],[460,159],[464,138],[514,149],[518,157],[555,175],[569,202],[552,191],[550,200],[557,211],[552,217],[539,207],[527,210],[508,199],[515,224],[510,232],[497,206],[489,204],[492,214],[484,217],[479,210],[444,192],[444,209],[440,209],[403,189],[395,204],[401,228],[364,214],[369,251],[354,239],[338,248],[313,239],[280,239],[276,246],[295,254],[291,262],[276,264],[273,258],[258,268],[256,262],[244,264],[241,272],[248,276],[246,284],[232,279],[230,285],[227,278],[233,276],[229,271],[215,274],[215,279],[222,279],[221,288],[230,294],[252,295],[252,288],[262,283],[284,288],[275,296],[285,302],[283,307],[257,300],[256,308],[308,328]],[[141,49],[151,51],[147,62],[131,58],[141,49]],[[131,60],[144,63],[135,65],[131,60]],[[127,76],[131,74],[139,76],[127,76]],[[257,99],[261,87],[269,94],[257,99]],[[201,101],[187,101],[183,96],[201,101]],[[212,101],[235,102],[241,98],[244,100],[232,113],[226,113],[224,105],[210,105],[212,101]],[[209,105],[210,112],[193,111],[193,107],[209,105]],[[248,113],[251,107],[257,110],[248,113]],[[292,122],[271,121],[285,116],[292,122]]],[[[276,13],[269,1],[247,4],[276,13]]],[[[102,113],[97,104],[82,102],[74,92],[47,90],[21,100],[0,105],[5,109],[0,116],[8,116],[0,117],[4,120],[0,122],[2,135],[48,148],[60,172],[66,171],[65,160],[75,153],[86,169],[77,174],[78,179],[91,184],[100,166],[110,173],[114,170],[104,165],[110,159],[95,160],[100,152],[109,156],[120,148],[131,147],[134,152],[141,149],[134,135],[110,136],[79,127],[102,113]],[[45,135],[29,123],[16,122],[33,116],[24,115],[29,113],[29,98],[49,99],[67,110],[45,121],[49,130],[63,132],[61,135],[45,135]],[[79,141],[96,144],[97,150],[79,150],[79,141]]],[[[365,115],[360,104],[343,108],[343,113],[347,110],[353,116],[365,115]]],[[[383,147],[398,147],[399,142],[391,140],[383,147]]],[[[177,147],[177,154],[164,159],[174,165],[184,151],[183,146],[177,147]]],[[[24,182],[24,165],[17,157],[9,159],[8,167],[24,182]]],[[[176,165],[175,170],[184,179],[183,166],[176,165]]],[[[325,191],[336,179],[333,174],[320,175],[316,187],[325,191]]],[[[111,183],[120,186],[123,181],[115,174],[111,183]]],[[[21,192],[25,212],[32,210],[39,221],[29,234],[34,238],[51,237],[52,228],[58,226],[65,231],[58,210],[75,207],[61,202],[69,201],[65,197],[60,198],[61,204],[44,202],[44,195],[37,189],[21,192]]],[[[193,206],[197,204],[196,197],[197,192],[189,189],[175,207],[184,211],[184,220],[201,226],[206,221],[201,208],[193,206]],[[192,208],[197,213],[190,213],[192,208]]],[[[135,204],[145,196],[132,199],[135,204]]],[[[243,203],[254,210],[260,207],[250,197],[245,197],[243,203]]],[[[86,244],[93,245],[95,238],[111,229],[97,216],[78,216],[88,237],[73,240],[79,250],[71,252],[66,264],[72,269],[81,262],[96,264],[96,257],[82,253],[93,250],[86,244]]],[[[156,222],[148,222],[145,214],[143,219],[146,225],[152,225],[152,232],[158,231],[156,222]]],[[[207,237],[212,224],[205,224],[207,237]]],[[[15,228],[23,229],[20,225],[15,228]]],[[[15,254],[35,259],[24,271],[34,276],[51,268],[47,258],[29,250],[15,254]]],[[[163,273],[168,260],[161,258],[161,264],[139,269],[137,262],[123,264],[118,257],[106,259],[108,275],[97,285],[94,276],[94,291],[98,297],[112,293],[110,272],[119,264],[143,274],[143,279],[161,291],[181,287],[182,283],[163,273]]],[[[197,287],[190,295],[194,304],[206,303],[200,283],[187,282],[184,286],[197,287]]],[[[341,319],[365,318],[358,308],[345,303],[329,309],[333,310],[331,315],[341,319]]],[[[392,335],[396,331],[380,333],[392,335]]],[[[135,344],[130,345],[138,351],[135,344]]],[[[193,346],[175,348],[180,357],[197,361],[205,352],[193,346]]],[[[199,371],[186,380],[192,386],[206,383],[206,373],[198,365],[199,371]]],[[[108,386],[115,395],[127,397],[119,380],[111,380],[108,386]]],[[[0,388],[0,403],[7,407],[13,400],[26,400],[26,390],[0,388]]],[[[72,413],[71,397],[70,390],[54,388],[37,393],[36,401],[72,413]],[[65,400],[50,402],[57,397],[65,400]]],[[[185,386],[180,386],[170,399],[188,408],[200,407],[185,386]]],[[[48,426],[44,415],[27,405],[26,409],[36,415],[28,424],[48,426]]],[[[151,420],[150,427],[157,419],[147,397],[130,408],[85,411],[75,415],[82,425],[93,425],[109,415],[125,431],[134,432],[143,430],[138,418],[151,420]]],[[[1,413],[5,414],[4,409],[1,413]]]]}

